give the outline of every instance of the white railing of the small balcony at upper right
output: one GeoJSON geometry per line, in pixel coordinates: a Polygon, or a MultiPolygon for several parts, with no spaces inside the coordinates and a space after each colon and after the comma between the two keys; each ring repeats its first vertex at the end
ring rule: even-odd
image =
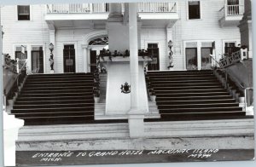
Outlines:
{"type": "Polygon", "coordinates": [[[225,5],[219,10],[220,19],[228,16],[237,16],[244,13],[244,5],[225,5]]]}

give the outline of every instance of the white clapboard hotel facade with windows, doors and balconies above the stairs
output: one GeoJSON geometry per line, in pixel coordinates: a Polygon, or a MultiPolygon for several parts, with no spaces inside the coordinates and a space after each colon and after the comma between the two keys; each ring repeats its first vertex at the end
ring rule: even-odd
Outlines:
{"type": "MultiPolygon", "coordinates": [[[[3,53],[20,58],[23,45],[28,72],[49,73],[49,43],[53,43],[55,73],[90,72],[96,55],[108,49],[109,9],[108,3],[3,6],[3,53]]],[[[124,3],[121,10],[125,14],[124,3]]],[[[243,12],[243,0],[139,3],[139,49],[149,49],[157,59],[149,70],[168,70],[170,40],[172,70],[209,69],[214,63],[209,54],[219,60],[240,44],[237,26],[243,12]]]]}

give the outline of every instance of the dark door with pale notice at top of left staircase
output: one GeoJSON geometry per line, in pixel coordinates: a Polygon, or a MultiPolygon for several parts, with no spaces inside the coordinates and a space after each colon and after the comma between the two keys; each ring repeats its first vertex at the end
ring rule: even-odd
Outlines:
{"type": "Polygon", "coordinates": [[[63,65],[64,72],[76,72],[75,49],[73,44],[64,45],[63,65]]]}

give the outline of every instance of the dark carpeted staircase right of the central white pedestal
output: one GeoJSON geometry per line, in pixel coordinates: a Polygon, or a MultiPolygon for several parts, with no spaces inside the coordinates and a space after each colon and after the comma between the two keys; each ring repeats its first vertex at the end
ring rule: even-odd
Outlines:
{"type": "Polygon", "coordinates": [[[145,121],[247,118],[212,71],[156,71],[146,78],[161,117],[145,121]]]}

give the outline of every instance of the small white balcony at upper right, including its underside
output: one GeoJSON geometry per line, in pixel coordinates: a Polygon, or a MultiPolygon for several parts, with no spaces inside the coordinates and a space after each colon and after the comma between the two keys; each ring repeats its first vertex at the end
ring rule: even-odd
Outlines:
{"type": "Polygon", "coordinates": [[[219,10],[219,25],[238,26],[244,13],[244,5],[225,5],[219,10]]]}

